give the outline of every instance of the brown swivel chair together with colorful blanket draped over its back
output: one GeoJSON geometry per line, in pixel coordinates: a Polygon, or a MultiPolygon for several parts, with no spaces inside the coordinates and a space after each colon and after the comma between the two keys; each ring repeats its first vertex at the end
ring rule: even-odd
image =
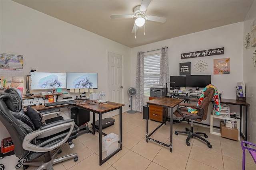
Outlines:
{"type": "Polygon", "coordinates": [[[177,110],[174,111],[174,115],[176,115],[176,117],[182,117],[182,118],[191,120],[190,129],[186,128],[186,131],[175,131],[175,135],[178,135],[178,133],[188,134],[188,137],[186,139],[186,145],[190,146],[189,140],[191,137],[197,137],[198,139],[201,139],[202,141],[206,142],[208,148],[212,148],[212,145],[210,145],[210,142],[208,142],[206,139],[200,136],[200,135],[204,135],[205,138],[208,138],[206,133],[194,132],[194,129],[193,129],[193,121],[200,122],[202,120],[207,119],[208,106],[212,101],[212,98],[214,98],[214,102],[216,99],[216,103],[214,103],[214,105],[216,105],[216,107],[218,107],[216,109],[220,111],[220,108],[219,108],[220,105],[218,101],[218,90],[212,84],[209,84],[204,88],[200,96],[200,99],[198,101],[198,104],[180,103],[177,107],[177,110]]]}

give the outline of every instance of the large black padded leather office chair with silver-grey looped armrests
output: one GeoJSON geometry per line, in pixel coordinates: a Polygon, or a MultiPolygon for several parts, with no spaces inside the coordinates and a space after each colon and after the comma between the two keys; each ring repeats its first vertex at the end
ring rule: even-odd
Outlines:
{"type": "Polygon", "coordinates": [[[55,158],[61,152],[62,144],[66,142],[71,144],[72,139],[77,138],[79,128],[73,119],[60,120],[60,117],[57,121],[48,119],[46,125],[37,129],[32,123],[34,120],[29,118],[31,115],[22,110],[20,91],[10,88],[4,92],[0,94],[0,120],[10,133],[15,155],[25,160],[23,169],[31,165],[39,166],[37,170],[53,170],[53,164],[70,158],[74,158],[74,161],[78,160],[77,154],[55,158]],[[42,155],[44,155],[43,161],[34,161],[42,155]]]}

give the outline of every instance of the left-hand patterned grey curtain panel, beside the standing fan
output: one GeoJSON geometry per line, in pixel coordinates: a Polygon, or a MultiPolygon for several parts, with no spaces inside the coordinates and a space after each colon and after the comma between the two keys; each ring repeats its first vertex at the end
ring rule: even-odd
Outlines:
{"type": "Polygon", "coordinates": [[[136,111],[143,111],[144,105],[144,53],[137,54],[136,111]]]}

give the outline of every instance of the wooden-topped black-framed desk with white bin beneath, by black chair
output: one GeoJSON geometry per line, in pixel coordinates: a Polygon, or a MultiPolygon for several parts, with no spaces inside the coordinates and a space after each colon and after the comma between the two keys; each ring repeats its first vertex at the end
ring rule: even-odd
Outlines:
{"type": "Polygon", "coordinates": [[[106,162],[108,159],[114,156],[117,152],[122,150],[122,106],[124,105],[125,104],[119,104],[114,102],[108,102],[108,104],[99,104],[99,103],[92,103],[92,101],[90,101],[90,104],[79,104],[77,102],[71,105],[67,104],[67,105],[52,106],[52,107],[44,107],[40,105],[40,106],[33,106],[33,108],[38,109],[40,111],[40,110],[58,109],[62,107],[75,106],[81,109],[92,111],[93,127],[92,127],[92,131],[90,132],[92,134],[95,134],[95,131],[99,133],[99,165],[101,166],[104,162],[106,162]],[[116,110],[116,109],[119,109],[119,148],[102,160],[102,135],[105,135],[105,136],[107,135],[106,133],[102,132],[102,114],[107,113],[109,111],[116,110]],[[95,129],[95,113],[99,115],[99,129],[95,129]]]}

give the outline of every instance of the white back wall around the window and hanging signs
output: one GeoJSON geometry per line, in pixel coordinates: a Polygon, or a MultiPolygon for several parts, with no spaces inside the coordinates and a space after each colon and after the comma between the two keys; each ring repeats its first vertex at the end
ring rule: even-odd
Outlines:
{"type": "MultiPolygon", "coordinates": [[[[211,74],[212,84],[218,88],[219,92],[223,91],[222,98],[236,99],[235,86],[237,82],[243,80],[243,22],[134,47],[131,51],[131,63],[136,63],[137,52],[150,51],[164,46],[168,47],[170,76],[179,76],[179,63],[191,62],[191,75],[211,74]],[[224,55],[180,59],[181,53],[219,47],[224,47],[224,55]],[[222,58],[230,58],[230,74],[213,74],[213,60],[222,58]],[[208,64],[207,69],[202,72],[196,71],[194,68],[194,64],[200,60],[208,64]]],[[[132,86],[135,86],[135,69],[131,69],[131,78],[132,86]]],[[[202,123],[210,124],[210,116],[202,123]]]]}

